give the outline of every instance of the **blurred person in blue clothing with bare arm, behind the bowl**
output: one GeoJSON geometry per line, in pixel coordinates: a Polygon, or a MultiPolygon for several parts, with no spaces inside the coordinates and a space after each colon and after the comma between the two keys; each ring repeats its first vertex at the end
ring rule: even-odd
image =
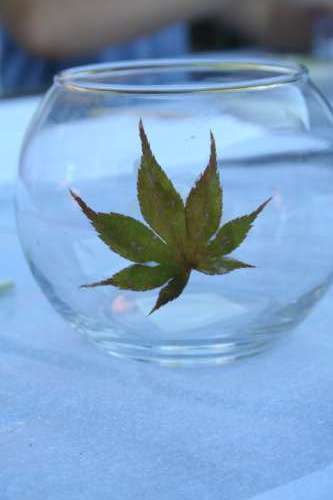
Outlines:
{"type": "Polygon", "coordinates": [[[3,91],[38,91],[69,66],[182,55],[188,37],[180,21],[192,3],[0,0],[3,91]]]}

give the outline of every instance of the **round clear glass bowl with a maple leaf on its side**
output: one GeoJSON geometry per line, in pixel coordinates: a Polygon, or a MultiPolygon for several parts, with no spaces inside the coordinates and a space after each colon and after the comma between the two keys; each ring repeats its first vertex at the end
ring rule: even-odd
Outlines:
{"type": "Polygon", "coordinates": [[[300,66],[185,59],[65,71],[22,151],[17,219],[32,272],[55,309],[111,354],[171,365],[254,354],[297,326],[331,283],[332,137],[331,109],[300,66]],[[140,120],[184,203],[207,166],[210,131],[221,224],[272,197],[228,256],[255,268],[193,271],[183,293],[153,314],[159,289],[82,288],[132,262],[98,237],[70,195],[147,225],[137,192],[140,120]]]}

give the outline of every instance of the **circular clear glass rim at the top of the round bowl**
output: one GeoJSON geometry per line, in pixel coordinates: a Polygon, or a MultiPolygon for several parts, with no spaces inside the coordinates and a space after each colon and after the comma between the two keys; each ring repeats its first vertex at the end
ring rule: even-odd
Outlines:
{"type": "Polygon", "coordinates": [[[76,66],[58,73],[55,84],[72,92],[116,94],[163,95],[163,94],[202,94],[213,92],[241,92],[271,89],[277,86],[292,84],[306,80],[308,69],[290,61],[268,58],[224,58],[224,57],[186,57],[174,59],[141,59],[136,61],[120,61],[76,66]],[[256,71],[261,76],[240,78],[237,81],[204,81],[163,84],[126,83],[126,77],[135,74],[165,74],[168,71],[201,71],[229,75],[237,71],[256,71]],[[265,76],[272,73],[271,76],[265,76]],[[99,81],[108,76],[110,81],[99,81]],[[124,77],[120,82],[116,79],[124,77]],[[112,81],[112,78],[115,81],[112,81]]]}

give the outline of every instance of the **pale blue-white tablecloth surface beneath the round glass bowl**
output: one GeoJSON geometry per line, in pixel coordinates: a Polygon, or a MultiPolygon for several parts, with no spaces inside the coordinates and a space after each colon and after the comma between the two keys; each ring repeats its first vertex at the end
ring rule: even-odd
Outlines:
{"type": "Polygon", "coordinates": [[[100,352],[43,298],[5,214],[34,106],[0,105],[0,273],[16,280],[0,302],[0,499],[331,500],[333,292],[272,351],[224,368],[100,352]]]}

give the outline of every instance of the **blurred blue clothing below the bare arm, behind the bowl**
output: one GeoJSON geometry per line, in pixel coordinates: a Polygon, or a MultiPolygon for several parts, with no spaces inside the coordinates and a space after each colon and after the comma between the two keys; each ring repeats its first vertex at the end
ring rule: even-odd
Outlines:
{"type": "Polygon", "coordinates": [[[184,25],[174,25],[153,35],[116,45],[95,56],[48,60],[19,47],[5,30],[0,31],[0,85],[4,92],[34,92],[52,83],[59,71],[82,64],[154,57],[177,57],[188,48],[184,25]]]}

